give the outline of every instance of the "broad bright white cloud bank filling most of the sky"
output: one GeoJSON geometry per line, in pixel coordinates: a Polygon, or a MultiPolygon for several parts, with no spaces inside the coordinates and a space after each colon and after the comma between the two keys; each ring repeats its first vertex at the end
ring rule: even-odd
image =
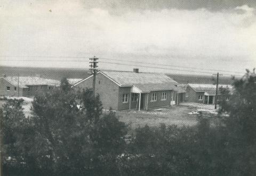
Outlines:
{"type": "MultiPolygon", "coordinates": [[[[253,7],[243,5],[221,11],[207,8],[155,11],[148,7],[116,14],[115,4],[112,10],[93,4],[89,5],[92,8],[85,7],[82,1],[16,2],[4,6],[0,12],[0,54],[86,57],[96,54],[122,56],[124,60],[132,59],[131,56],[141,57],[138,60],[165,56],[170,63],[197,66],[195,62],[199,62],[207,67],[211,62],[214,68],[220,67],[220,62],[214,60],[236,61],[229,66],[221,65],[229,70],[234,67],[244,70],[256,58],[253,7]]],[[[45,63],[49,65],[52,64],[45,63]]]]}

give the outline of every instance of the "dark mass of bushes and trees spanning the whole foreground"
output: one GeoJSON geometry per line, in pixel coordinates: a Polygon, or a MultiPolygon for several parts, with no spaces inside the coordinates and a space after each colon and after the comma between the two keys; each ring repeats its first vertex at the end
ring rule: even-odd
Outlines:
{"type": "Polygon", "coordinates": [[[193,127],[146,125],[131,138],[114,112],[102,114],[99,97],[76,93],[66,79],[34,98],[29,118],[22,100],[10,99],[0,110],[4,174],[256,175],[255,71],[234,87],[220,103],[229,116],[214,128],[198,115],[193,127]]]}

